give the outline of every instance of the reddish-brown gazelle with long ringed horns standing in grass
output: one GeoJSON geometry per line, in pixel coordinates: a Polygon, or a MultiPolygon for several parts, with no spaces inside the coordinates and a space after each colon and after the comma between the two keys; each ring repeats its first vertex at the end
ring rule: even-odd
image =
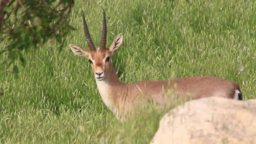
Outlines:
{"type": "Polygon", "coordinates": [[[188,97],[199,99],[208,96],[243,99],[240,88],[235,82],[211,76],[122,83],[117,77],[111,57],[120,47],[123,41],[123,34],[117,35],[109,48],[106,48],[107,23],[105,12],[103,11],[101,43],[100,47],[96,48],[91,40],[84,13],[82,14],[85,37],[91,51],[73,44],[70,44],[69,47],[76,55],[86,57],[91,63],[101,98],[117,118],[126,120],[128,113],[133,113],[134,107],[145,104],[147,100],[160,105],[170,103],[168,89],[171,89],[173,95],[178,99],[187,99],[188,97]]]}

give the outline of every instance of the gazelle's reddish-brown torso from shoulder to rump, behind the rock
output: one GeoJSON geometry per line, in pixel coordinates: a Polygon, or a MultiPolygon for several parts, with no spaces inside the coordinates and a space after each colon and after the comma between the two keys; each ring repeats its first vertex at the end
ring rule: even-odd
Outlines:
{"type": "Polygon", "coordinates": [[[199,99],[209,96],[235,99],[235,95],[239,94],[238,98],[242,99],[242,93],[236,93],[236,90],[240,92],[240,87],[235,82],[211,76],[142,81],[125,84],[125,87],[129,93],[128,99],[138,102],[152,99],[155,103],[165,104],[168,103],[168,96],[172,94],[178,99],[199,99]]]}

